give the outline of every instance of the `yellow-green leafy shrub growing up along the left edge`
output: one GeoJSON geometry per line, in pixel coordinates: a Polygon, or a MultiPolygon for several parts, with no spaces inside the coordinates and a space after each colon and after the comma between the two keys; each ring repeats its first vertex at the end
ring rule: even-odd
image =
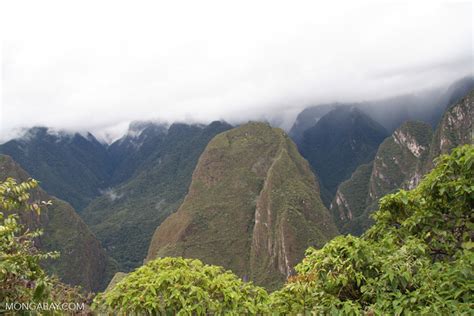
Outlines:
{"type": "Polygon", "coordinates": [[[41,252],[35,240],[41,231],[28,231],[19,224],[14,212],[35,212],[40,215],[41,205],[31,202],[29,191],[38,186],[35,180],[16,183],[8,178],[0,182],[0,312],[7,303],[28,302],[85,302],[77,287],[50,277],[40,263],[55,258],[58,253],[41,252]]]}

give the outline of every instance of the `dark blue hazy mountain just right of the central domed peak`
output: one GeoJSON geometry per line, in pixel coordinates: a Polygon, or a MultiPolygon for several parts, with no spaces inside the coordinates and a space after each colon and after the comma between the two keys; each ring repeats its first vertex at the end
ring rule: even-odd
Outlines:
{"type": "Polygon", "coordinates": [[[299,149],[334,196],[337,186],[370,162],[387,131],[356,107],[339,106],[303,134],[299,149]]]}

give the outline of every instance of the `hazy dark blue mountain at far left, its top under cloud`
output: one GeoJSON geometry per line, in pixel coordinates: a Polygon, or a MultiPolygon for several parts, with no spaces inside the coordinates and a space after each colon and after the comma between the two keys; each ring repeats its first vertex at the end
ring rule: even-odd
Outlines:
{"type": "Polygon", "coordinates": [[[45,127],[0,145],[51,194],[67,200],[78,211],[94,197],[109,177],[107,151],[91,134],[68,134],[45,127]]]}

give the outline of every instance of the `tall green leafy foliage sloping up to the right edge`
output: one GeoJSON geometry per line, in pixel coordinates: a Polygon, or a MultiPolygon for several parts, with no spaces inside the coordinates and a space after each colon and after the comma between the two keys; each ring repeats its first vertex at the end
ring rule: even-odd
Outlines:
{"type": "Polygon", "coordinates": [[[457,148],[412,191],[385,196],[362,237],[308,249],[272,311],[474,312],[474,147],[457,148]]]}

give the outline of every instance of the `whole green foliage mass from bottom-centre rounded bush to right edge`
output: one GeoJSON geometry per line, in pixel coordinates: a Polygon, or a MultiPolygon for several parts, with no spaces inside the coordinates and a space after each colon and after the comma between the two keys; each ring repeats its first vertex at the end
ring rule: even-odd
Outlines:
{"type": "Polygon", "coordinates": [[[149,262],[95,299],[104,312],[169,314],[471,314],[474,147],[455,149],[412,191],[380,202],[362,237],[308,249],[270,296],[199,260],[149,262]]]}

